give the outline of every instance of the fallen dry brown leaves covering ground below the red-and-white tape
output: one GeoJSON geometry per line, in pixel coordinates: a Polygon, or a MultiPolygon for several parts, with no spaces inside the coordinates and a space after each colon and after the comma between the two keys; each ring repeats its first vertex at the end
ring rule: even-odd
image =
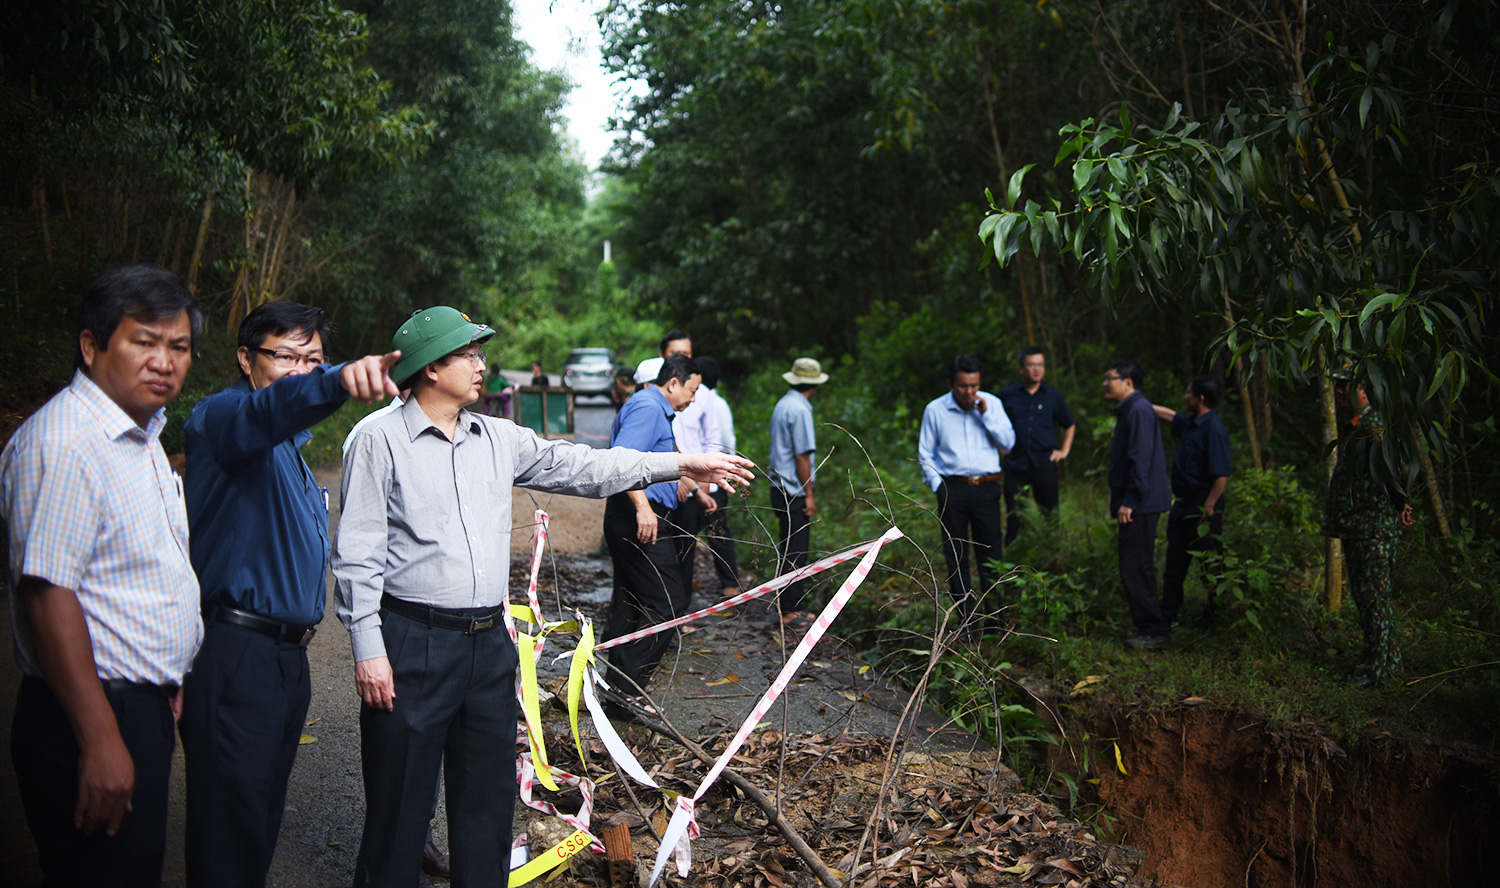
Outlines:
{"type": "MultiPolygon", "coordinates": [[[[705,772],[669,740],[639,728],[628,729],[627,738],[663,786],[692,790],[705,772]]],[[[886,742],[878,736],[783,736],[764,730],[735,756],[734,768],[780,800],[780,814],[850,888],[1146,884],[1134,874],[1143,858],[1138,850],[1095,840],[1086,826],[1064,820],[1052,804],[1020,792],[1016,777],[996,766],[993,756],[975,753],[908,754],[879,812],[878,838],[856,856],[879,796],[886,742]]],[[[603,750],[590,754],[596,752],[603,750]]],[[[596,796],[596,818],[600,824],[632,824],[636,862],[644,873],[656,856],[656,832],[666,825],[666,816],[650,794],[638,789],[636,796],[656,810],[633,810],[618,782],[606,782],[596,796]],[[650,825],[642,813],[651,818],[650,825]]],[[[726,783],[716,784],[698,806],[698,820],[704,834],[693,842],[692,872],[680,879],[668,867],[662,884],[818,884],[765,812],[726,783]]],[[[570,873],[552,884],[606,888],[609,879],[603,858],[579,855],[570,873]]]]}

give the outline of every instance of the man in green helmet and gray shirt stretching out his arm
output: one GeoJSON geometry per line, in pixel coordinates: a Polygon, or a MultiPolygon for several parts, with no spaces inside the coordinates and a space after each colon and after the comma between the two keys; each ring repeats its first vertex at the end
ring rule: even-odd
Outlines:
{"type": "Polygon", "coordinates": [[[334,546],[339,618],[363,702],[364,834],[354,885],[417,884],[440,762],[454,885],[507,880],[516,804],[516,646],[501,609],[512,486],[608,496],[688,476],[746,482],[728,454],[594,450],[465,410],[494,330],[456,309],[393,336],[399,411],[352,435],[334,546]]]}

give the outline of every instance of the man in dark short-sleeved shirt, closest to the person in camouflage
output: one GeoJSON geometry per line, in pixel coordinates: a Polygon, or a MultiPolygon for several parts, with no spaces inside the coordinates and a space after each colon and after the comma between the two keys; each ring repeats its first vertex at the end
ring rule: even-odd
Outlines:
{"type": "MultiPolygon", "coordinates": [[[[1184,394],[1188,411],[1155,405],[1156,418],[1172,423],[1178,453],[1172,459],[1172,512],[1167,513],[1167,562],[1161,578],[1161,610],[1168,622],[1182,610],[1182,582],[1188,579],[1192,552],[1216,552],[1224,532],[1224,488],[1228,486],[1228,430],[1218,417],[1224,384],[1215,376],[1192,376],[1184,394]],[[1203,519],[1208,519],[1208,528],[1203,519]]],[[[1214,586],[1204,578],[1208,596],[1203,624],[1214,621],[1214,586]]]]}

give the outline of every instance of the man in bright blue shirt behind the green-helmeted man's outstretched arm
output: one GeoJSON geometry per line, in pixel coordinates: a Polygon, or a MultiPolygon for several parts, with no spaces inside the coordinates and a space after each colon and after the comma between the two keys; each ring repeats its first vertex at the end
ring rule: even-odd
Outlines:
{"type": "MultiPolygon", "coordinates": [[[[610,447],[644,453],[672,453],[672,417],[693,402],[699,375],[693,358],[674,354],[662,362],[656,381],[630,396],[609,432],[610,447]]],[[[698,482],[682,478],[694,488],[698,482]]],[[[682,586],[676,537],[681,530],[669,520],[676,508],[678,482],[662,482],[645,490],[626,490],[604,501],[604,544],[615,566],[615,591],[609,602],[604,640],[630,634],[681,616],[687,612],[692,590],[682,586]]],[[[657,633],[609,651],[609,680],[616,692],[634,696],[651,682],[662,654],[672,636],[657,633]]],[[[621,700],[610,700],[612,718],[630,718],[621,700]]]]}

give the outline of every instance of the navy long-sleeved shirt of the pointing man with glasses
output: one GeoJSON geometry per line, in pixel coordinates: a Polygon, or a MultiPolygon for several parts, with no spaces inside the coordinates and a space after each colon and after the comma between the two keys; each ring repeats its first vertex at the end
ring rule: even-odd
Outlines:
{"type": "Polygon", "coordinates": [[[202,609],[296,626],[322,620],[328,507],[298,450],[348,400],[344,364],[250,390],[240,380],[188,416],[183,492],[202,609]]]}

